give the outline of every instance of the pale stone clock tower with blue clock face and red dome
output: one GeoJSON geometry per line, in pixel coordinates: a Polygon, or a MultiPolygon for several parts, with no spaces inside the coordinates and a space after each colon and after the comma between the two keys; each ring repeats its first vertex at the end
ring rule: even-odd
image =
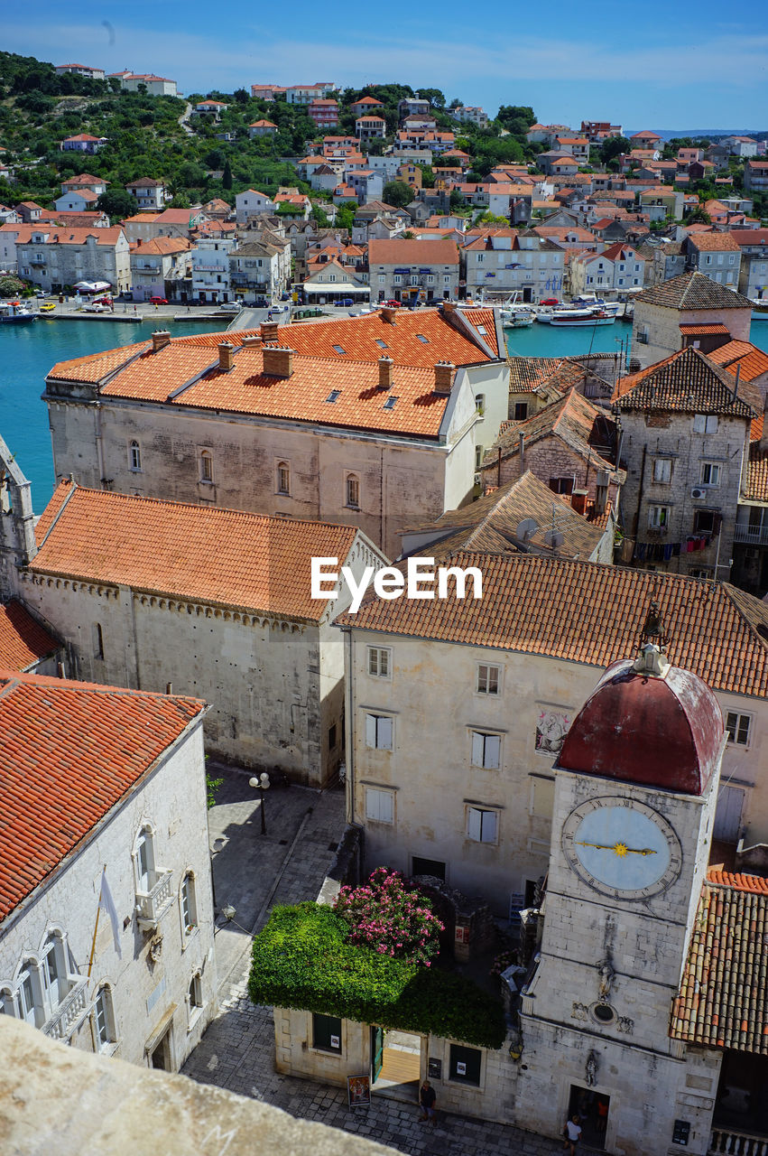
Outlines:
{"type": "MultiPolygon", "coordinates": [[[[658,636],[657,636],[658,637],[658,636]]],[[[544,928],[522,993],[516,1122],[620,1156],[706,1153],[711,1053],[669,1037],[725,746],[711,690],[656,642],[613,664],[554,768],[544,928]]]]}

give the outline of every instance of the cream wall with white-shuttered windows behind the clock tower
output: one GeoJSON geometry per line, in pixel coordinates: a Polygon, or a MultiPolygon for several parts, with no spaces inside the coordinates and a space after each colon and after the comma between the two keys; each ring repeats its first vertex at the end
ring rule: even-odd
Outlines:
{"type": "MultiPolygon", "coordinates": [[[[413,857],[445,862],[452,887],[489,896],[506,916],[509,894],[524,894],[549,865],[556,755],[536,749],[537,724],[542,716],[556,727],[560,716],[572,721],[602,670],[355,629],[350,646],[348,817],[365,828],[366,866],[410,874],[413,857]],[[392,649],[388,679],[367,673],[368,646],[392,649]],[[501,667],[495,698],[476,694],[479,662],[501,667]],[[366,746],[365,716],[376,712],[394,719],[392,753],[366,746]],[[475,728],[501,736],[499,770],[471,765],[475,728]],[[394,793],[392,824],[367,818],[366,786],[394,793]],[[464,800],[500,808],[498,845],[465,837],[464,800]]],[[[724,713],[752,718],[748,746],[726,748],[723,783],[744,787],[745,842],[768,840],[766,712],[755,698],[717,698],[724,713]]]]}

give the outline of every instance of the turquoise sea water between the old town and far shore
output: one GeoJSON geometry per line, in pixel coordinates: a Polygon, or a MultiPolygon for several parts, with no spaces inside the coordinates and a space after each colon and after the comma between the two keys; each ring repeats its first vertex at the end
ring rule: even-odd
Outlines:
{"type": "MultiPolygon", "coordinates": [[[[119,321],[44,321],[35,325],[0,325],[0,435],[32,483],[32,504],[40,513],[53,492],[53,455],[47,408],[40,400],[45,375],[59,361],[128,346],[147,340],[156,321],[126,325],[119,321]]],[[[214,324],[170,325],[171,333],[210,333],[214,324]]],[[[552,328],[534,324],[510,329],[510,354],[557,357],[574,354],[618,353],[632,327],[622,321],[589,328],[552,328]]],[[[768,351],[768,321],[752,323],[752,341],[768,351]]]]}

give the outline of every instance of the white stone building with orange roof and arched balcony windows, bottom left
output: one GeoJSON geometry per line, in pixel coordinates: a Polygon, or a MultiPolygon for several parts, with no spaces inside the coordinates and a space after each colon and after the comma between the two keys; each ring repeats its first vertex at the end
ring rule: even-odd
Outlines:
{"type": "Polygon", "coordinates": [[[206,705],[0,682],[3,1018],[176,1072],[216,1009],[206,705]]]}

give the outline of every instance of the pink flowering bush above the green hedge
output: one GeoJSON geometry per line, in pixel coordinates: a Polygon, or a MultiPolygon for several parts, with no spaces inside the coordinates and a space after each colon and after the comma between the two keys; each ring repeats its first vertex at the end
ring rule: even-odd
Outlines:
{"type": "Polygon", "coordinates": [[[443,925],[432,904],[411,890],[400,872],[378,867],[361,887],[343,887],[334,904],[350,925],[350,942],[370,947],[379,955],[408,963],[423,963],[440,950],[443,925]]]}

